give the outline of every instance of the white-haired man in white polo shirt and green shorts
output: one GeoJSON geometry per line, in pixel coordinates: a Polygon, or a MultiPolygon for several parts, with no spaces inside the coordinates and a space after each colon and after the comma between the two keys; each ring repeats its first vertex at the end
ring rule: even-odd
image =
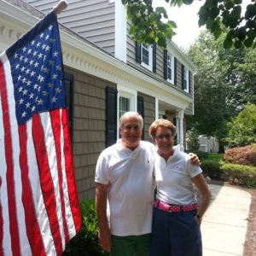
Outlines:
{"type": "MultiPolygon", "coordinates": [[[[111,256],[148,256],[156,149],[141,141],[143,118],[136,112],[121,116],[119,133],[121,139],[96,164],[99,244],[111,256]]],[[[199,162],[196,155],[193,162],[199,162]]]]}

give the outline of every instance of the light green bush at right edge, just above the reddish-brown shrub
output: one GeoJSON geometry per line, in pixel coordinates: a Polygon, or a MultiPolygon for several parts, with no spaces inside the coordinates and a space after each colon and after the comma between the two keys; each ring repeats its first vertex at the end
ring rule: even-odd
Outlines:
{"type": "Polygon", "coordinates": [[[229,126],[226,142],[230,147],[241,147],[256,143],[256,105],[247,106],[233,118],[229,126]]]}

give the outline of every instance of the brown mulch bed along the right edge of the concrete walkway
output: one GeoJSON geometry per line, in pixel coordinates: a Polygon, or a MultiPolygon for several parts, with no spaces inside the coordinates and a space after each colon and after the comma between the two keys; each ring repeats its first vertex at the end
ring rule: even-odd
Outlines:
{"type": "MultiPolygon", "coordinates": [[[[231,186],[230,183],[222,181],[210,181],[209,183],[231,186]]],[[[243,248],[243,256],[256,255],[256,189],[247,189],[241,186],[236,186],[239,189],[243,189],[251,194],[250,212],[247,218],[247,236],[243,248]]]]}

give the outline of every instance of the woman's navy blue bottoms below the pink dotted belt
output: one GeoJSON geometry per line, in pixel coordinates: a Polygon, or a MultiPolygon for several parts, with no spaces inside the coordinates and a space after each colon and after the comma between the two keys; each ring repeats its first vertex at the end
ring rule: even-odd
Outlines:
{"type": "Polygon", "coordinates": [[[150,256],[202,256],[201,230],[195,212],[154,208],[150,256]]]}

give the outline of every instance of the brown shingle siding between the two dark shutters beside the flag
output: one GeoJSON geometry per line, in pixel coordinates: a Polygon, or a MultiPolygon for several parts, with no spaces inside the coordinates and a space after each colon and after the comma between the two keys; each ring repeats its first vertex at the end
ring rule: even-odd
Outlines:
{"type": "Polygon", "coordinates": [[[94,198],[96,160],[106,148],[108,81],[65,67],[73,76],[73,161],[79,198],[94,198]]]}

